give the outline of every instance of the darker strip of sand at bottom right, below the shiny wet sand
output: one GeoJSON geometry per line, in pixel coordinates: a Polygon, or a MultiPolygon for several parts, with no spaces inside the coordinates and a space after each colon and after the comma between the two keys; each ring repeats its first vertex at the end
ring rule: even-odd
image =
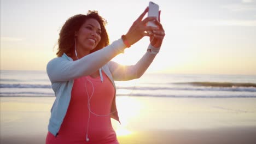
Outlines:
{"type": "Polygon", "coordinates": [[[256,142],[256,127],[219,128],[207,130],[165,130],[140,131],[131,136],[120,136],[122,144],[135,143],[254,143],[256,142]]]}

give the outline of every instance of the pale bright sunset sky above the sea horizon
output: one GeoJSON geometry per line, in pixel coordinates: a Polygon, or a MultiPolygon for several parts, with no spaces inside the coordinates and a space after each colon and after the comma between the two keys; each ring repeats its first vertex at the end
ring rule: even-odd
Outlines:
{"type": "MultiPolygon", "coordinates": [[[[165,39],[147,73],[256,75],[256,0],[159,0],[165,39]]],[[[1,0],[1,70],[45,70],[65,21],[98,10],[110,43],[149,1],[1,0]]],[[[112,61],[135,64],[145,37],[112,61]]]]}

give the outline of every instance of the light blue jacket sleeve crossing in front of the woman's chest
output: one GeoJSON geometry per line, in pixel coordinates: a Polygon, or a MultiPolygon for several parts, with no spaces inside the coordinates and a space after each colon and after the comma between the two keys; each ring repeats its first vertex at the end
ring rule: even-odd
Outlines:
{"type": "Polygon", "coordinates": [[[77,61],[69,61],[65,57],[54,58],[47,64],[46,71],[51,83],[76,79],[94,73],[113,57],[124,52],[124,49],[123,40],[119,39],[77,61]]]}

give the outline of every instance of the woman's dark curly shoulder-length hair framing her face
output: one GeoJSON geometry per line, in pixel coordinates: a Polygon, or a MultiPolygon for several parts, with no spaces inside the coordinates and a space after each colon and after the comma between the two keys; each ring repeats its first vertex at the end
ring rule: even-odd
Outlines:
{"type": "Polygon", "coordinates": [[[102,49],[109,45],[108,33],[106,31],[105,26],[107,25],[107,21],[98,15],[98,11],[89,10],[87,15],[78,14],[72,17],[64,23],[60,31],[60,37],[58,40],[58,49],[57,49],[57,57],[61,57],[63,53],[66,53],[69,57],[71,57],[74,51],[74,38],[75,32],[79,30],[79,28],[86,22],[88,19],[96,19],[101,26],[101,40],[94,50],[91,50],[90,53],[95,52],[97,50],[102,49]]]}

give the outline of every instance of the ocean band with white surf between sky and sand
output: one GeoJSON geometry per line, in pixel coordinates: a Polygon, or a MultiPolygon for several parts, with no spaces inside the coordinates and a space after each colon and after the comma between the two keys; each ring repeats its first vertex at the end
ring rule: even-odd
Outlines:
{"type": "MultiPolygon", "coordinates": [[[[0,97],[55,97],[46,71],[1,70],[0,97]]],[[[144,74],[116,81],[117,96],[256,98],[256,75],[144,74]]]]}

